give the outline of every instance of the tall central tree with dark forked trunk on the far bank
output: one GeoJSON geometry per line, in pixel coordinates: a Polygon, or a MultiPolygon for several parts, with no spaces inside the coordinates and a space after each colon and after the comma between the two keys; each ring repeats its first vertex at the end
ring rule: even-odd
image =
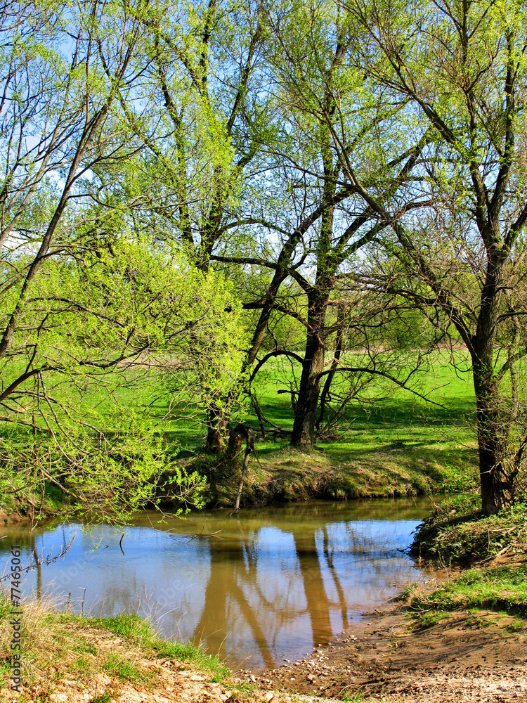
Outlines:
{"type": "MultiPolygon", "coordinates": [[[[273,309],[285,311],[278,300],[280,286],[290,278],[304,295],[303,309],[287,311],[306,334],[303,354],[289,353],[301,363],[291,443],[311,446],[320,386],[327,375],[325,350],[335,333],[334,325],[326,324],[333,292],[339,280],[351,275],[346,267],[354,254],[389,224],[379,220],[365,202],[365,188],[371,188],[383,203],[404,199],[427,137],[409,135],[389,158],[382,153],[379,142],[389,140],[405,101],[365,91],[363,71],[349,67],[358,41],[355,27],[336,4],[300,1],[287,9],[277,8],[267,22],[274,41],[266,58],[284,123],[283,146],[268,146],[268,168],[276,181],[280,165],[285,172],[282,189],[287,193],[287,214],[280,224],[269,227],[280,232],[281,247],[275,259],[266,254],[213,254],[212,259],[274,271],[266,292],[245,304],[261,309],[248,366],[256,360],[273,309]],[[292,205],[298,212],[294,226],[289,223],[292,205]]],[[[420,200],[410,194],[405,207],[417,207],[420,200]]],[[[336,368],[329,382],[334,373],[336,368]]]]}

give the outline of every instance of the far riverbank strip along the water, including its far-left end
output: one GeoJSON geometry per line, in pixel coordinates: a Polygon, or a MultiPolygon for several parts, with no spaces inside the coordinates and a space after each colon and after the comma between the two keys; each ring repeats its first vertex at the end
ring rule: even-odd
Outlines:
{"type": "MultiPolygon", "coordinates": [[[[328,446],[310,450],[283,446],[264,452],[256,443],[240,505],[413,496],[438,496],[440,500],[444,494],[474,492],[479,479],[476,452],[463,450],[460,456],[452,463],[448,451],[443,456],[437,448],[428,451],[427,446],[402,440],[371,449],[360,460],[346,460],[328,446]]],[[[240,463],[226,463],[223,456],[197,453],[182,457],[178,465],[188,473],[197,471],[206,477],[207,508],[233,507],[240,485],[240,463]]],[[[167,493],[165,489],[161,492],[167,493]]],[[[169,512],[179,506],[177,492],[178,489],[174,502],[163,503],[169,512]]],[[[66,505],[68,510],[74,507],[70,500],[57,489],[38,506],[14,501],[0,508],[0,525],[60,517],[66,505]]],[[[86,510],[86,503],[82,508],[86,510]]]]}

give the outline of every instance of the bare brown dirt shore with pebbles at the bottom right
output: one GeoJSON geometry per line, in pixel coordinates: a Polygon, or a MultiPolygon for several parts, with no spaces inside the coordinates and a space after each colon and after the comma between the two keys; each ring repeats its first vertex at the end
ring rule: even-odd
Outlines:
{"type": "Polygon", "coordinates": [[[513,623],[495,612],[456,612],[412,631],[393,605],[257,681],[269,690],[386,703],[527,702],[526,631],[513,623]]]}

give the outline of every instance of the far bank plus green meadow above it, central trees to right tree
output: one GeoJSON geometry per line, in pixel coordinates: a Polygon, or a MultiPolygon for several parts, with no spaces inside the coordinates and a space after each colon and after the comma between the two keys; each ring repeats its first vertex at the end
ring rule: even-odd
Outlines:
{"type": "MultiPolygon", "coordinates": [[[[242,503],[306,498],[365,498],[469,492],[478,485],[474,392],[469,373],[450,366],[438,354],[419,379],[427,403],[393,385],[368,387],[363,399],[351,401],[316,449],[298,451],[287,436],[271,432],[256,439],[242,503]]],[[[460,362],[460,359],[457,361],[460,362]]],[[[278,391],[293,382],[287,366],[268,368],[257,384],[263,414],[283,430],[294,415],[287,394],[278,391]]],[[[259,430],[255,418],[249,418],[259,430]]],[[[180,427],[178,441],[189,467],[209,477],[209,505],[230,505],[239,472],[221,458],[195,451],[198,437],[190,425],[180,427]],[[194,449],[193,449],[194,447],[194,449]]],[[[199,444],[199,443],[198,443],[199,444]]]]}

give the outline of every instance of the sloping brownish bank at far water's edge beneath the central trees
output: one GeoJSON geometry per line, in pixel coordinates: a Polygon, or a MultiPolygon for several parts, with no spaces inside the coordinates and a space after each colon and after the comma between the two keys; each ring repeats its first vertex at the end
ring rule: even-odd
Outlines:
{"type": "MultiPolygon", "coordinates": [[[[242,505],[273,501],[394,498],[470,491],[474,465],[445,465],[419,446],[400,449],[402,442],[372,451],[365,460],[341,460],[322,449],[285,447],[270,455],[256,451],[242,493],[242,505]],[[421,451],[419,451],[421,450],[421,451]]],[[[207,477],[207,507],[231,506],[240,484],[240,466],[218,457],[197,455],[183,460],[186,470],[207,477]]]]}

